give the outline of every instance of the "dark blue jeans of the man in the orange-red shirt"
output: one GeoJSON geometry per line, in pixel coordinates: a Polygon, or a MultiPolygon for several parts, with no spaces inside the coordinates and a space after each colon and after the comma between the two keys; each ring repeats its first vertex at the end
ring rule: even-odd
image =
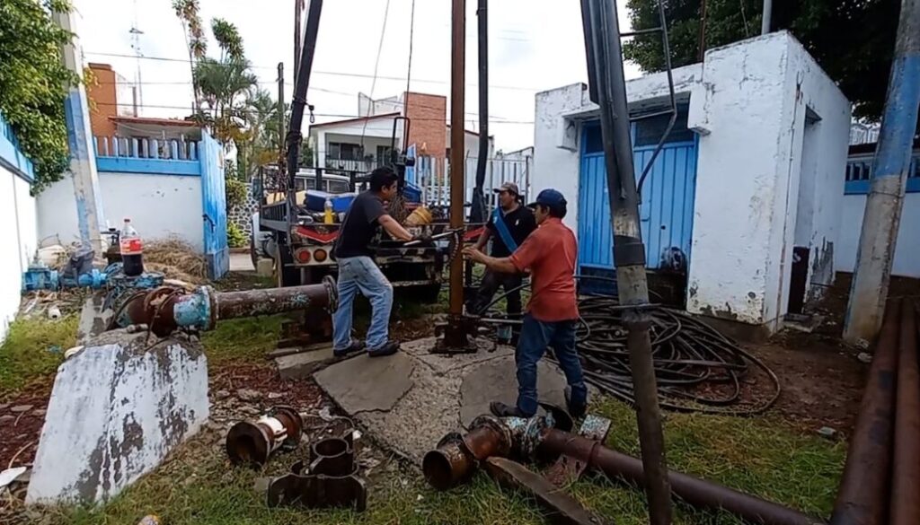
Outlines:
{"type": "Polygon", "coordinates": [[[585,405],[588,402],[588,388],[584,385],[581,361],[575,351],[575,323],[546,323],[537,321],[530,314],[524,315],[521,338],[514,352],[518,376],[517,407],[523,415],[530,417],[536,413],[536,363],[543,357],[547,347],[553,349],[559,368],[566,375],[566,382],[571,389],[571,405],[585,405]]]}

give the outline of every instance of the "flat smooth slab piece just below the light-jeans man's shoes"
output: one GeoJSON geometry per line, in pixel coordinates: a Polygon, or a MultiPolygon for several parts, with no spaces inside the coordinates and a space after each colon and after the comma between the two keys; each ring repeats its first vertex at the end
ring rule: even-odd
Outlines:
{"type": "Polygon", "coordinates": [[[404,353],[385,358],[367,355],[344,360],[314,376],[319,386],[349,414],[388,411],[414,382],[415,364],[404,353]]]}

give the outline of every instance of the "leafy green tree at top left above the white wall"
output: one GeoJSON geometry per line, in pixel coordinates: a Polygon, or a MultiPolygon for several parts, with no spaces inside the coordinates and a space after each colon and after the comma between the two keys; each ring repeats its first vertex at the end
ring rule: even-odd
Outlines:
{"type": "Polygon", "coordinates": [[[63,102],[79,78],[61,62],[61,46],[73,35],[51,13],[69,10],[66,0],[0,2],[0,113],[35,166],[36,193],[68,165],[63,102]]]}

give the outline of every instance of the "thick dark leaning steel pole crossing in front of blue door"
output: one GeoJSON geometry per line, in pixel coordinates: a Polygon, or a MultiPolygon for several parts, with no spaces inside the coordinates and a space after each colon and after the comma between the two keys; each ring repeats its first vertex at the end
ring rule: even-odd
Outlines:
{"type": "Polygon", "coordinates": [[[664,458],[661,408],[651,356],[649,283],[645,274],[645,245],[638,220],[627,86],[615,2],[581,0],[581,15],[590,94],[601,110],[604,165],[614,234],[616,288],[620,302],[627,307],[623,312],[623,322],[627,327],[629,364],[636,392],[636,417],[649,500],[649,522],[651,525],[668,525],[672,514],[671,486],[664,458]]]}

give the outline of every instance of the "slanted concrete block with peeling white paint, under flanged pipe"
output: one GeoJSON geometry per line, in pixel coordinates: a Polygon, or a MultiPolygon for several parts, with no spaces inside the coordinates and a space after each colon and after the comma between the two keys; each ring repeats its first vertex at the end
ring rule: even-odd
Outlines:
{"type": "Polygon", "coordinates": [[[26,502],[98,503],[154,470],[209,416],[201,346],[123,330],[92,338],[54,380],[26,502]]]}

